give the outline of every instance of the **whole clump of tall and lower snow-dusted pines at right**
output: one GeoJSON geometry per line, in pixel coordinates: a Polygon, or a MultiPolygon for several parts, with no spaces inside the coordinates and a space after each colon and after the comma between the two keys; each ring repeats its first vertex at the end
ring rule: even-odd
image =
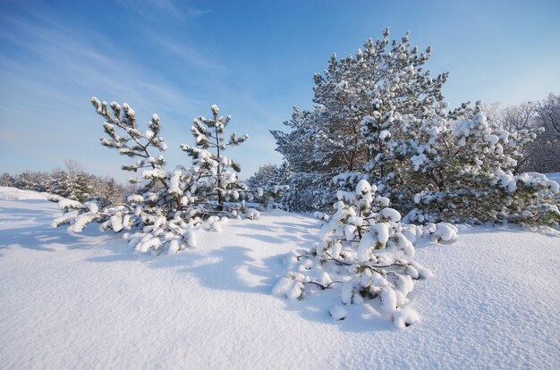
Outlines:
{"type": "MultiPolygon", "coordinates": [[[[292,171],[287,206],[327,211],[336,189],[365,179],[409,222],[557,224],[556,183],[515,174],[539,129],[500,129],[481,102],[447,111],[447,73],[423,69],[430,54],[386,29],[354,56],[333,55],[315,75],[314,110],[294,108],[292,131],[272,131],[292,171]]],[[[554,106],[541,115],[556,117],[554,106]]]]}

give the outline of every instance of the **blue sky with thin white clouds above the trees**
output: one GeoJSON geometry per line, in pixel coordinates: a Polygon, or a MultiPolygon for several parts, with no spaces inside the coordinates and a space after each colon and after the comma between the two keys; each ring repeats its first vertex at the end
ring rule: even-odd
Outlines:
{"type": "Polygon", "coordinates": [[[450,71],[452,107],[539,100],[560,93],[559,18],[557,0],[0,0],[0,172],[72,158],[124,181],[128,158],[98,144],[95,95],[128,102],[140,124],[159,114],[170,165],[189,163],[179,145],[216,103],[230,130],[250,134],[228,152],[248,177],[280,163],[268,130],[311,107],[313,73],[386,26],[433,47],[428,68],[450,71]]]}

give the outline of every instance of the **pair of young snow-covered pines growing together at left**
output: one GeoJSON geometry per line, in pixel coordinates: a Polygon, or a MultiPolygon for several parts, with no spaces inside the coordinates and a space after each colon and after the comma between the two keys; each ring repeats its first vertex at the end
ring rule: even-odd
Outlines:
{"type": "Polygon", "coordinates": [[[199,225],[219,230],[218,222],[224,218],[241,217],[243,212],[251,219],[258,216],[245,206],[245,200],[252,199],[253,194],[237,179],[239,164],[224,156],[226,147],[241,144],[247,135],[238,137],[233,133],[226,143],[225,126],[231,117],[219,116],[217,105],[211,107],[212,118],[194,120],[191,132],[195,146],[182,145],[182,150],[192,157],[191,166],[177,166],[173,172],[165,172],[165,157],[151,154],[153,150],[161,153],[167,149],[159,135],[157,114],[146,130],[140,130],[134,110],[126,103],[112,102],[109,110],[106,102],[97,97],[91,102],[106,119],[103,127],[107,136],[101,138],[101,144],[134,158],[122,168],[140,172],[140,178],[131,178],[134,192],[122,204],[60,201],[64,214],[55,219],[55,227],[68,224],[69,231],[80,232],[89,223],[101,223],[104,231],[126,231],[123,237],[137,251],[160,253],[167,247],[174,253],[195,246],[193,228],[199,225]]]}

